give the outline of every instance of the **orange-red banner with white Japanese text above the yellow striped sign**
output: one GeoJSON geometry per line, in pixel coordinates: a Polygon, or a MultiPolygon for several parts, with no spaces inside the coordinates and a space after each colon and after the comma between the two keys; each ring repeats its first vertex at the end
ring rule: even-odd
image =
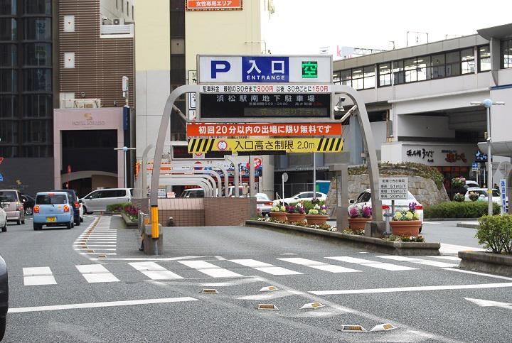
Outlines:
{"type": "Polygon", "coordinates": [[[341,123],[205,124],[188,123],[188,137],[341,136],[341,123]]]}

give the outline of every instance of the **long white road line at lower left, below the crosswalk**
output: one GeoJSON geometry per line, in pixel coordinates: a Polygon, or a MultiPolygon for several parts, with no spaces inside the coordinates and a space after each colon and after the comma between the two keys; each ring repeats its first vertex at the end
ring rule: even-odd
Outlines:
{"type": "Polygon", "coordinates": [[[40,312],[40,311],[55,311],[55,310],[76,310],[78,308],[94,308],[94,307],[180,303],[180,302],[195,301],[195,300],[197,300],[197,299],[191,298],[191,297],[182,297],[182,298],[160,298],[160,299],[110,301],[110,302],[104,302],[104,303],[50,305],[50,306],[36,306],[36,307],[14,307],[14,308],[11,307],[11,308],[9,308],[9,313],[40,312]]]}

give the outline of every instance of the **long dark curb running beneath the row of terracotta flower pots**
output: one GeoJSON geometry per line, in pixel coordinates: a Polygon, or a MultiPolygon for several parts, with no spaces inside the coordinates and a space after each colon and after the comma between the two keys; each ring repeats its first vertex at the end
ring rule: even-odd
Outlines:
{"type": "Polygon", "coordinates": [[[299,234],[302,236],[313,236],[315,238],[326,239],[329,241],[335,240],[357,248],[378,251],[391,255],[440,255],[439,248],[441,247],[441,244],[439,243],[385,241],[384,239],[375,237],[358,236],[356,234],[342,234],[341,232],[313,229],[311,227],[298,227],[296,225],[260,222],[257,220],[247,220],[245,225],[250,227],[261,227],[262,229],[271,229],[279,232],[291,232],[292,234],[299,234]]]}

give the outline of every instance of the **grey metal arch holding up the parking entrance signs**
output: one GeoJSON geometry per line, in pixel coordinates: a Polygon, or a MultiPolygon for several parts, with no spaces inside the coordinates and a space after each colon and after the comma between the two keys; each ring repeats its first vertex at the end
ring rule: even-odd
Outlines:
{"type": "MultiPolygon", "coordinates": [[[[382,221],[382,202],[378,197],[375,197],[378,192],[378,162],[377,153],[375,151],[375,142],[373,141],[373,135],[370,127],[370,120],[368,119],[368,112],[366,111],[366,105],[361,99],[356,89],[348,87],[346,85],[331,85],[332,94],[346,94],[353,103],[357,106],[359,126],[361,126],[361,133],[363,135],[363,142],[368,152],[368,174],[370,178],[370,188],[372,189],[372,219],[373,221],[382,221]]],[[[199,85],[184,85],[180,86],[169,94],[166,105],[164,107],[164,113],[161,117],[159,134],[156,140],[156,147],[153,160],[153,173],[151,175],[151,189],[149,195],[149,207],[151,212],[151,236],[153,239],[159,238],[159,224],[158,224],[158,186],[159,186],[159,172],[161,166],[162,153],[164,152],[164,141],[166,137],[167,128],[171,121],[171,111],[174,106],[174,102],[182,94],[188,92],[199,92],[201,86],[199,85]]],[[[178,114],[183,118],[184,121],[188,121],[186,117],[181,113],[178,114]]],[[[288,121],[289,119],[280,119],[276,121],[288,121]]],[[[325,120],[325,119],[324,119],[325,120]]]]}

